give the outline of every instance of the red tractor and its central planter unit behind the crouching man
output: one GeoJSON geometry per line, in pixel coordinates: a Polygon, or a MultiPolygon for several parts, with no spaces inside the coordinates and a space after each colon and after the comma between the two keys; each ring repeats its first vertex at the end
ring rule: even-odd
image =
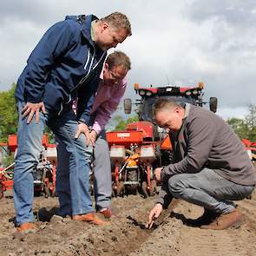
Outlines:
{"type": "MultiPolygon", "coordinates": [[[[169,164],[172,146],[166,131],[153,122],[154,102],[163,97],[181,105],[188,102],[202,107],[209,103],[211,111],[216,112],[217,98],[211,97],[209,102],[203,102],[203,87],[202,82],[186,88],[141,88],[135,84],[135,92],[141,96],[141,100],[135,102],[139,107],[137,113],[140,121],[129,123],[124,131],[107,133],[115,195],[136,194],[139,190],[144,197],[155,193],[157,184],[153,170],[169,164]]],[[[125,113],[131,113],[131,108],[132,101],[125,99],[125,113]]]]}

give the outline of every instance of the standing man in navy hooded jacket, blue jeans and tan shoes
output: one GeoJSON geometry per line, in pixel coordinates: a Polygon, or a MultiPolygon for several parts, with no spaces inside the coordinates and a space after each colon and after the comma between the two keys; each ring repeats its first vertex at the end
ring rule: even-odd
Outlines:
{"type": "Polygon", "coordinates": [[[89,130],[83,122],[90,111],[88,102],[97,90],[106,51],[127,36],[131,36],[130,23],[119,12],[102,19],[67,16],[49,28],[31,53],[15,93],[19,124],[14,203],[19,232],[36,228],[32,172],[38,163],[45,125],[69,152],[73,220],[105,223],[95,215],[89,195],[91,153],[86,142],[89,130]],[[79,102],[78,120],[72,110],[75,98],[79,102]]]}

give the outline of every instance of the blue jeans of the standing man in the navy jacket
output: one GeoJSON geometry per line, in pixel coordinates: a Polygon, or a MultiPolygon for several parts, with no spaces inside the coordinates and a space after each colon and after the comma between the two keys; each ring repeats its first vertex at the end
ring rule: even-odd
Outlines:
{"type": "MultiPolygon", "coordinates": [[[[27,118],[22,118],[21,111],[23,102],[18,102],[18,147],[16,153],[16,166],[14,169],[14,203],[16,207],[16,223],[34,221],[32,211],[34,185],[33,169],[36,167],[42,150],[43,129],[47,124],[54,132],[59,141],[66,148],[69,157],[69,199],[64,197],[63,204],[71,204],[72,214],[93,212],[92,200],[89,194],[89,160],[91,153],[86,147],[86,138],[80,135],[75,139],[77,121],[71,108],[63,110],[61,115],[53,115],[49,112],[43,115],[40,112],[40,121],[36,123],[35,118],[27,124],[27,118]],[[67,202],[66,202],[67,200],[67,202]]],[[[62,155],[58,162],[65,161],[62,155]]],[[[57,174],[61,175],[61,174],[57,174]]],[[[59,186],[60,191],[66,191],[66,184],[59,186]],[[63,188],[62,188],[63,186],[63,188]]]]}

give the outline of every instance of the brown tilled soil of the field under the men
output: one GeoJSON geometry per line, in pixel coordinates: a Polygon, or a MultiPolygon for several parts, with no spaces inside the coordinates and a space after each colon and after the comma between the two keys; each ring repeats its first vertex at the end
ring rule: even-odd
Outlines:
{"type": "Polygon", "coordinates": [[[239,201],[244,224],[224,231],[201,230],[187,226],[196,219],[200,207],[175,200],[162,213],[154,229],[145,225],[154,198],[129,195],[113,199],[117,217],[109,226],[62,219],[54,215],[56,198],[35,199],[39,230],[26,236],[15,233],[13,200],[0,201],[0,255],[256,255],[256,194],[239,201]]]}

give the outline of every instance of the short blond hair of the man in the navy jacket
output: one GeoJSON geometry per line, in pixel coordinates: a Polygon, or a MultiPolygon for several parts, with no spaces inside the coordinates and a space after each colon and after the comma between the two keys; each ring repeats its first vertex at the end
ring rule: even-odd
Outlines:
{"type": "Polygon", "coordinates": [[[132,36],[131,23],[129,22],[128,17],[121,12],[115,11],[108,16],[102,17],[101,21],[108,23],[115,29],[126,30],[127,36],[132,36]]]}

